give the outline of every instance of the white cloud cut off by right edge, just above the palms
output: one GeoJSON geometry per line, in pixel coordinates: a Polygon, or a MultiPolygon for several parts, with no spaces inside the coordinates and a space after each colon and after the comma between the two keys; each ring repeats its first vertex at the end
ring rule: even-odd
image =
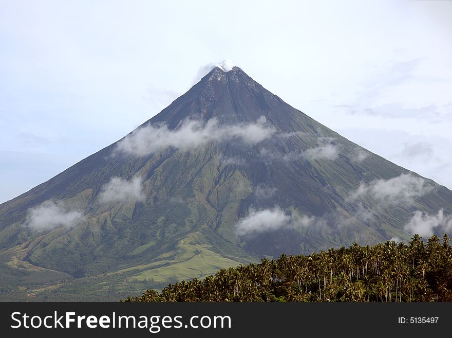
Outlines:
{"type": "Polygon", "coordinates": [[[452,215],[445,216],[443,209],[440,209],[436,215],[429,215],[417,210],[413,212],[413,217],[404,227],[407,232],[424,237],[433,235],[435,228],[450,232],[452,230],[452,215]]]}

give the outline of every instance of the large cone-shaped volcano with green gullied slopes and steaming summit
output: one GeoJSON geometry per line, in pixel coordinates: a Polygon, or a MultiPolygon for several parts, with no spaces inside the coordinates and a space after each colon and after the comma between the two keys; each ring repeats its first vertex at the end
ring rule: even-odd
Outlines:
{"type": "Polygon", "coordinates": [[[0,288],[115,300],[281,253],[407,240],[451,213],[444,186],[216,67],[121,140],[0,205],[0,288]]]}

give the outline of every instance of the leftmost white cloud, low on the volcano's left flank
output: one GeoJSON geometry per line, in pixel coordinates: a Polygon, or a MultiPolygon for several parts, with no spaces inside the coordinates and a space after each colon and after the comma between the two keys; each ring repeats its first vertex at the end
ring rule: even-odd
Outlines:
{"type": "Polygon", "coordinates": [[[33,230],[74,227],[84,220],[82,212],[67,209],[62,202],[45,201],[28,209],[25,225],[33,230]]]}

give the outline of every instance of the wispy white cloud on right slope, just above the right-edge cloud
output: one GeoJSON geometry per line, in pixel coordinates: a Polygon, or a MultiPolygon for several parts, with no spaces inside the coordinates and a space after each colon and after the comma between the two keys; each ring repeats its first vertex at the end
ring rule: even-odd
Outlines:
{"type": "Polygon", "coordinates": [[[366,195],[381,202],[410,202],[428,192],[431,187],[422,177],[411,173],[401,174],[389,180],[375,180],[369,184],[362,183],[352,194],[351,199],[357,200],[366,195]]]}

